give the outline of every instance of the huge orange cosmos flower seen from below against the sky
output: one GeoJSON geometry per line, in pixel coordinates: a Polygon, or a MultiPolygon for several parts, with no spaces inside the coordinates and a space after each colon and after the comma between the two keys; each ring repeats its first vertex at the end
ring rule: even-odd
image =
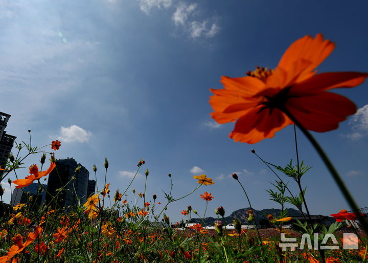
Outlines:
{"type": "Polygon", "coordinates": [[[356,112],[349,99],[327,90],[354,87],[368,76],[358,72],[315,74],[335,48],[321,34],[305,36],[286,50],[275,70],[257,68],[245,77],[223,76],[225,89],[213,90],[210,104],[218,123],[236,121],[229,135],[236,142],[257,143],[289,124],[292,115],[306,129],[324,132],[356,112]]]}

